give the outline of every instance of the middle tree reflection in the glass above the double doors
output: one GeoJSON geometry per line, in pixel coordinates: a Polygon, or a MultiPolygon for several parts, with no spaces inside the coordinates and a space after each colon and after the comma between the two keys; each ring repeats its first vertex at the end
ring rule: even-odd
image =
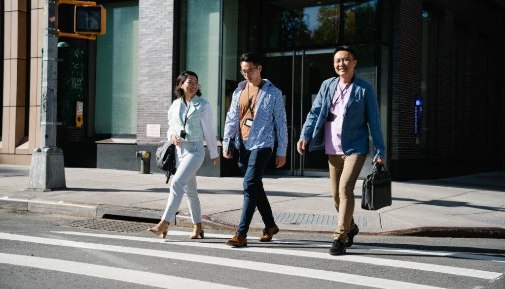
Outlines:
{"type": "Polygon", "coordinates": [[[318,9],[319,27],[314,31],[315,44],[336,43],[340,19],[338,5],[321,6],[318,9]]]}

